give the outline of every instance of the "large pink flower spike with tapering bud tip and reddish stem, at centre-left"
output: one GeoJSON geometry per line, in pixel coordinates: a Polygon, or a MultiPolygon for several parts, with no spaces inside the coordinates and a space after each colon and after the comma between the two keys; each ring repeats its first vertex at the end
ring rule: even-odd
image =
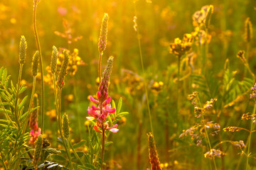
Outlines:
{"type": "MultiPolygon", "coordinates": [[[[88,107],[87,113],[91,117],[86,117],[87,120],[96,119],[96,125],[94,125],[94,130],[100,132],[102,134],[102,152],[101,152],[101,159],[102,162],[104,161],[104,152],[105,152],[105,131],[110,130],[110,132],[118,132],[117,124],[109,127],[109,124],[106,122],[107,117],[110,113],[114,113],[116,111],[115,108],[112,108],[110,102],[112,101],[111,97],[108,96],[108,85],[110,74],[112,72],[113,66],[113,59],[114,57],[110,57],[107,60],[107,68],[103,72],[102,81],[99,86],[99,90],[97,91],[97,99],[90,96],[90,101],[96,103],[98,106],[92,105],[92,108],[88,107]]],[[[102,169],[102,162],[101,162],[101,169],[102,169]]]]}

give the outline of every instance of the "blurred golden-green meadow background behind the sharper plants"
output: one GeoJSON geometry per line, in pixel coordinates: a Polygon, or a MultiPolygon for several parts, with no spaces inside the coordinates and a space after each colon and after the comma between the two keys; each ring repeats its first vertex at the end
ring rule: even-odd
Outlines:
{"type": "MultiPolygon", "coordinates": [[[[77,71],[70,72],[65,80],[63,111],[68,113],[70,118],[73,142],[79,142],[87,135],[85,117],[87,107],[90,106],[88,96],[95,95],[99,83],[97,43],[102,17],[104,13],[108,13],[110,17],[108,42],[102,57],[102,69],[105,68],[107,58],[110,55],[114,56],[114,69],[110,77],[110,96],[116,103],[122,97],[122,111],[128,111],[129,115],[119,121],[119,132],[110,136],[109,140],[114,144],[107,147],[106,161],[114,164],[114,169],[150,167],[146,136],[150,126],[144,91],[145,79],[146,88],[149,91],[154,137],[162,166],[165,166],[165,169],[205,169],[207,164],[208,167],[208,159],[203,158],[204,152],[200,147],[192,145],[193,142],[189,140],[178,138],[183,129],[190,128],[195,121],[193,106],[187,100],[188,94],[191,94],[194,89],[191,84],[183,84],[179,98],[181,107],[177,112],[177,58],[169,53],[169,44],[174,42],[175,38],[182,38],[183,34],[195,31],[193,13],[199,11],[202,6],[212,4],[214,12],[210,21],[211,39],[206,65],[216,81],[221,81],[225,61],[228,59],[230,70],[238,71],[236,78],[242,79],[240,70],[243,70],[243,64],[236,54],[239,50],[246,50],[244,40],[246,18],[250,17],[252,27],[256,26],[254,3],[256,4],[255,0],[138,0],[136,2],[132,0],[41,0],[38,4],[37,23],[43,66],[46,68],[44,75],[48,84],[46,85],[45,128],[53,147],[57,147],[58,125],[54,111],[51,76],[47,71],[52,47],[55,45],[59,50],[68,49],[70,54],[75,52],[74,54],[78,57],[77,67],[73,68],[77,71]],[[134,16],[137,16],[137,28],[139,28],[139,39],[142,44],[144,73],[139,57],[137,32],[134,30],[134,16]]],[[[32,13],[32,0],[0,0],[1,67],[8,69],[12,81],[16,84],[18,44],[21,35],[24,35],[28,43],[26,64],[23,67],[23,81],[28,86],[27,95],[31,93],[33,81],[31,60],[36,51],[32,13]]],[[[255,29],[253,34],[255,35],[255,29]]],[[[255,72],[255,37],[252,38],[250,47],[248,62],[252,71],[255,72]]],[[[197,45],[194,45],[193,50],[196,51],[196,49],[197,45]]],[[[181,77],[190,72],[186,60],[183,62],[181,77]]],[[[38,84],[39,79],[40,77],[38,77],[38,84]]],[[[36,91],[40,92],[40,86],[37,86],[36,91]]],[[[206,99],[203,103],[210,100],[210,97],[203,97],[206,99]]],[[[239,111],[238,108],[237,112],[239,111]]],[[[229,119],[236,123],[239,116],[231,119],[227,111],[227,114],[223,114],[220,118],[221,128],[227,125],[229,119]]],[[[237,137],[242,139],[246,135],[241,133],[237,137]]],[[[230,151],[226,157],[228,157],[225,162],[226,168],[233,169],[235,167],[233,159],[239,159],[237,152],[230,151]]],[[[220,164],[219,161],[217,163],[220,164]]]]}

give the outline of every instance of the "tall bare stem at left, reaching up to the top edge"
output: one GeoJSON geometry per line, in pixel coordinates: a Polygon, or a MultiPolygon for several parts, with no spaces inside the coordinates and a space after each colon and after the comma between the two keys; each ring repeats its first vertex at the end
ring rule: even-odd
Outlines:
{"type": "Polygon", "coordinates": [[[40,69],[41,69],[41,133],[43,135],[43,122],[44,122],[44,82],[43,82],[43,57],[42,57],[42,52],[41,52],[41,45],[39,42],[39,37],[38,37],[38,31],[36,28],[36,8],[38,5],[38,1],[35,2],[33,6],[33,31],[35,34],[36,38],[36,47],[38,49],[38,52],[40,54],[40,69]]]}

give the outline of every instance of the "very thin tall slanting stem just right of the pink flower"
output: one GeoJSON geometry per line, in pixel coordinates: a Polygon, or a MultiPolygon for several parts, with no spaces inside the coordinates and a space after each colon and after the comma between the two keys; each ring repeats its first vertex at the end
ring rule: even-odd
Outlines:
{"type": "MultiPolygon", "coordinates": [[[[134,1],[134,13],[135,13],[135,16],[137,16],[137,9],[136,9],[136,4],[135,3],[136,2],[134,1]]],[[[139,38],[139,25],[138,25],[138,23],[137,23],[137,40],[138,40],[138,43],[139,43],[139,57],[140,57],[141,64],[142,64],[142,72],[143,72],[143,75],[145,75],[143,58],[142,58],[142,45],[141,45],[140,38],[139,38]]],[[[152,133],[152,135],[154,135],[153,124],[152,124],[152,119],[151,119],[151,112],[150,112],[150,108],[149,108],[149,95],[148,95],[148,91],[146,89],[146,77],[144,77],[143,80],[144,80],[144,88],[145,88],[145,92],[146,92],[146,105],[147,105],[147,109],[148,109],[148,112],[149,112],[149,123],[150,123],[151,133],[152,133]]]]}

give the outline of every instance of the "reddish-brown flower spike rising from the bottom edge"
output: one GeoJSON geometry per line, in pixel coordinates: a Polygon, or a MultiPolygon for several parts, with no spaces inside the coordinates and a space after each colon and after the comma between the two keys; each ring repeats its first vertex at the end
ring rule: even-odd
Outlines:
{"type": "Polygon", "coordinates": [[[150,159],[150,164],[151,164],[151,169],[153,170],[161,170],[160,167],[160,162],[159,162],[159,157],[156,152],[156,145],[154,142],[154,136],[149,132],[148,134],[149,137],[149,159],[150,159]]]}

